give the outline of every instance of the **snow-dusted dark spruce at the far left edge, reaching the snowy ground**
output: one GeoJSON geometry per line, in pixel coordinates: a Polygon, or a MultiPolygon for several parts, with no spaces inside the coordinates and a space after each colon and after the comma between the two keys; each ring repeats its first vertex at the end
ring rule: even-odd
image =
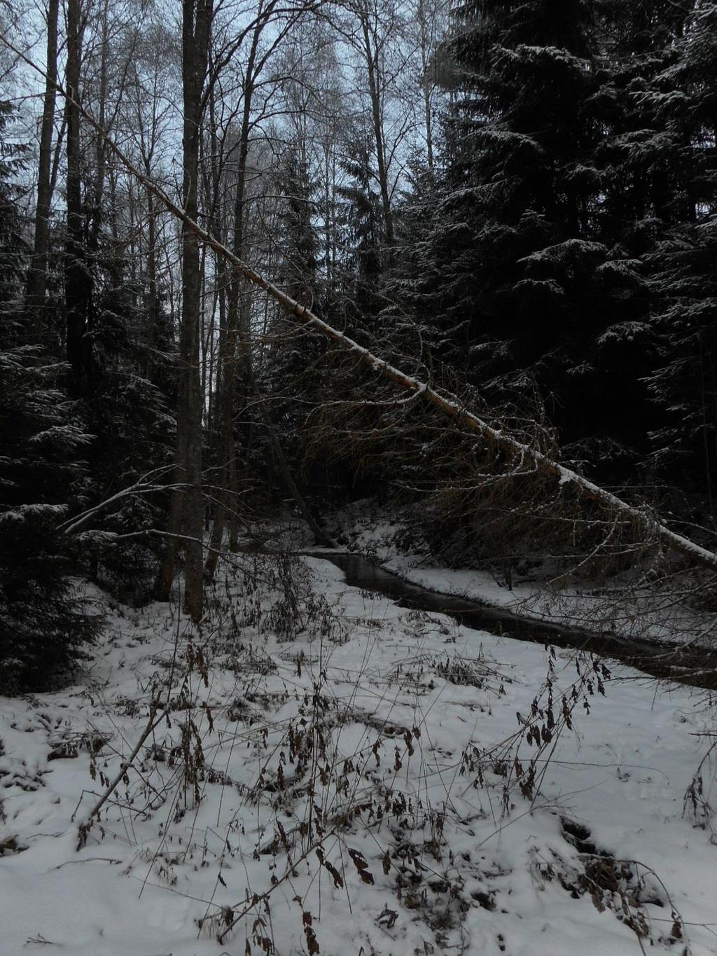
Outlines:
{"type": "Polygon", "coordinates": [[[58,530],[81,501],[90,437],[62,391],[67,367],[32,344],[22,315],[27,250],[12,185],[21,156],[3,141],[9,117],[0,103],[0,694],[43,689],[97,631],[58,530]]]}

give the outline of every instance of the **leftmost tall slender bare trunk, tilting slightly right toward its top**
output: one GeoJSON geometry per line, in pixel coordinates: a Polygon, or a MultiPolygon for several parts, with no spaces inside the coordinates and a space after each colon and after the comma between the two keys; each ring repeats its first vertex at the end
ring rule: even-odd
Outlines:
{"type": "Polygon", "coordinates": [[[47,9],[47,76],[40,126],[40,154],[37,167],[37,203],[34,216],[33,257],[25,289],[25,312],[33,324],[33,337],[43,334],[43,306],[47,287],[50,245],[50,207],[53,202],[52,162],[54,109],[57,99],[57,17],[59,0],[49,0],[47,9]]]}

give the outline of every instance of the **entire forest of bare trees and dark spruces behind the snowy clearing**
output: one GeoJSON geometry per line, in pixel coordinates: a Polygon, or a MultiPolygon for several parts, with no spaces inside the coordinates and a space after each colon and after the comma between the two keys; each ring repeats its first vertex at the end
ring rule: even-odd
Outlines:
{"type": "Polygon", "coordinates": [[[73,575],[142,602],[181,570],[199,621],[222,550],[287,500],[318,543],[349,500],[407,504],[453,563],[629,537],[560,489],[549,507],[534,469],[237,261],[712,546],[717,4],[0,17],[0,685],[43,685],[92,638],[73,575]]]}

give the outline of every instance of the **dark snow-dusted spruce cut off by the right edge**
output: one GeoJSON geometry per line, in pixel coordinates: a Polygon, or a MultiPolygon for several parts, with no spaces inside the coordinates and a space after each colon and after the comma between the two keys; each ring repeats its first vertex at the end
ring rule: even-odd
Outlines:
{"type": "MultiPolygon", "coordinates": [[[[717,4],[694,4],[644,100],[671,149],[673,215],[648,256],[660,355],[649,376],[656,463],[717,520],[717,4]]],[[[700,515],[700,520],[704,513],[700,515]]]]}

